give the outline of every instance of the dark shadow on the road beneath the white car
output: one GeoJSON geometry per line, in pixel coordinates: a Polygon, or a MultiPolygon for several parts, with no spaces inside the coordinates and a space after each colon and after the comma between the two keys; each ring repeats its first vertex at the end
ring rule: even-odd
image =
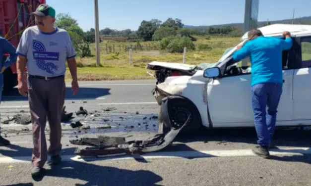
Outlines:
{"type": "MultiPolygon", "coordinates": [[[[273,144],[276,146],[310,147],[311,130],[302,130],[301,127],[277,127],[273,135],[273,144]]],[[[257,144],[257,134],[255,128],[235,128],[235,129],[205,129],[192,135],[179,135],[175,141],[188,142],[217,142],[235,143],[243,142],[257,144]]]]}

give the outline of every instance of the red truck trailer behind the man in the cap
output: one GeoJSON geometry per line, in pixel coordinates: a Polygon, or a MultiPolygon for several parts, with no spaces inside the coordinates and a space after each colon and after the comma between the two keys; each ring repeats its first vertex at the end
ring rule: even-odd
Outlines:
{"type": "MultiPolygon", "coordinates": [[[[21,34],[29,26],[35,25],[30,15],[46,0],[0,0],[0,36],[6,38],[14,47],[18,46],[21,34]]],[[[5,60],[6,55],[2,56],[5,60]]],[[[16,63],[4,73],[3,89],[11,89],[17,85],[16,63]]]]}

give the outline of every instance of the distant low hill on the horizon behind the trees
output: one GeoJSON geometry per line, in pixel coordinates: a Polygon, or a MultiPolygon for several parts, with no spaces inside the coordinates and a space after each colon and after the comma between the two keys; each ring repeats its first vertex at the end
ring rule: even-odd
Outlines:
{"type": "MultiPolygon", "coordinates": [[[[292,19],[284,19],[279,21],[269,21],[271,24],[292,24],[292,19]]],[[[307,24],[311,25],[311,16],[309,17],[302,17],[294,19],[294,24],[307,24]]],[[[258,27],[262,27],[266,21],[258,22],[258,27]]],[[[206,29],[208,27],[224,27],[224,26],[232,26],[238,29],[243,29],[244,23],[230,23],[230,24],[223,24],[223,25],[210,25],[210,26],[191,26],[185,25],[184,28],[194,28],[194,29],[206,29]]]]}

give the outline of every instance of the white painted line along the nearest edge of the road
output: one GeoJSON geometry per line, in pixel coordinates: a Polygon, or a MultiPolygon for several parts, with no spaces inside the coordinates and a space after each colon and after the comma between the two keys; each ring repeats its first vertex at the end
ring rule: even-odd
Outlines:
{"type": "MultiPolygon", "coordinates": [[[[311,148],[292,147],[280,148],[270,150],[270,155],[277,156],[294,156],[294,155],[307,155],[311,154],[311,148]]],[[[88,162],[94,160],[126,160],[126,159],[157,159],[157,158],[201,158],[201,157],[239,157],[239,156],[255,156],[250,149],[241,150],[203,150],[203,151],[171,151],[171,152],[152,152],[143,156],[139,155],[126,155],[120,154],[119,156],[101,157],[101,158],[82,158],[75,155],[62,156],[63,161],[80,161],[88,162]]],[[[29,163],[31,156],[17,156],[17,157],[0,157],[1,163],[29,163]]]]}

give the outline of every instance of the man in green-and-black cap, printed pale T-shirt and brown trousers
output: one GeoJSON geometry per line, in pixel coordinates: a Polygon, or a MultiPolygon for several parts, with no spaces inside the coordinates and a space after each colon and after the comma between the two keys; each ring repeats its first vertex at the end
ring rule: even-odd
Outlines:
{"type": "Polygon", "coordinates": [[[78,91],[76,52],[68,33],[54,27],[55,10],[41,4],[35,12],[37,26],[27,28],[17,47],[17,73],[19,93],[26,96],[33,123],[32,175],[42,173],[43,166],[51,156],[51,164],[61,163],[61,113],[64,104],[66,71],[65,61],[72,76],[73,94],[78,91]],[[27,64],[26,64],[27,59],[27,64]],[[27,65],[27,83],[24,69],[27,65]],[[28,84],[28,86],[27,86],[28,84]],[[49,150],[45,138],[47,119],[50,125],[49,150]]]}

